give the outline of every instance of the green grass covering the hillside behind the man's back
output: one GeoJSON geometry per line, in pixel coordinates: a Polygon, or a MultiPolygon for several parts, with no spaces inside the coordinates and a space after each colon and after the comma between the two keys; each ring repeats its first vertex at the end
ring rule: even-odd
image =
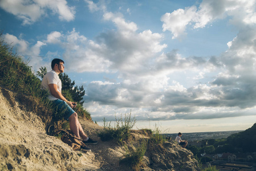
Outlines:
{"type": "Polygon", "coordinates": [[[0,38],[0,84],[15,91],[27,109],[38,113],[47,124],[51,121],[52,106],[46,91],[40,89],[40,80],[31,67],[13,54],[12,49],[0,38]],[[43,112],[42,112],[43,111],[43,112]],[[42,115],[40,115],[40,113],[42,115]]]}

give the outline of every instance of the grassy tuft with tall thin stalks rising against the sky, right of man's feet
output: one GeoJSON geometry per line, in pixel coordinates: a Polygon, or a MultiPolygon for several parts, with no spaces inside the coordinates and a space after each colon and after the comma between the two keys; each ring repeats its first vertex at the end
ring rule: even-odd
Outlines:
{"type": "Polygon", "coordinates": [[[132,112],[124,115],[124,121],[122,116],[116,118],[115,125],[111,126],[111,122],[107,123],[105,117],[103,119],[104,128],[98,133],[98,136],[102,141],[116,140],[117,143],[122,143],[129,138],[131,135],[131,129],[136,123],[135,117],[131,118],[132,112]]]}

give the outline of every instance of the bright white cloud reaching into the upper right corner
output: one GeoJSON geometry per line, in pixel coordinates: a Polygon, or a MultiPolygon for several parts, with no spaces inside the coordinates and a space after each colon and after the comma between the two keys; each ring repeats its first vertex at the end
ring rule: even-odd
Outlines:
{"type": "Polygon", "coordinates": [[[241,26],[241,24],[254,24],[256,21],[255,1],[245,0],[203,0],[200,6],[186,7],[165,13],[161,17],[163,31],[172,32],[172,38],[182,38],[186,35],[186,28],[203,28],[217,19],[231,17],[230,23],[241,26]]]}

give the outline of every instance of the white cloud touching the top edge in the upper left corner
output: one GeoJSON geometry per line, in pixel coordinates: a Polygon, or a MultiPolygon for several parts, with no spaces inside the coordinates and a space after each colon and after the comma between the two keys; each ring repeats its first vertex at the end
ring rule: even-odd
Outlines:
{"type": "Polygon", "coordinates": [[[59,15],[60,20],[72,21],[75,18],[75,9],[67,5],[65,0],[40,1],[40,0],[14,0],[0,1],[0,7],[16,15],[23,21],[23,25],[30,25],[42,16],[47,15],[47,10],[50,9],[53,13],[59,15]]]}

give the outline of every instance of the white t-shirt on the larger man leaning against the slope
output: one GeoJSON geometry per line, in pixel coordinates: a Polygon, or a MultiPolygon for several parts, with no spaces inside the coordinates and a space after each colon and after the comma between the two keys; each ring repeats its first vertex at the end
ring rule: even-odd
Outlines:
{"type": "Polygon", "coordinates": [[[58,74],[54,70],[51,70],[44,75],[41,88],[46,89],[50,93],[50,96],[48,96],[49,100],[57,100],[58,98],[51,95],[48,84],[57,84],[57,90],[62,93],[62,81],[59,79],[58,74]]]}

